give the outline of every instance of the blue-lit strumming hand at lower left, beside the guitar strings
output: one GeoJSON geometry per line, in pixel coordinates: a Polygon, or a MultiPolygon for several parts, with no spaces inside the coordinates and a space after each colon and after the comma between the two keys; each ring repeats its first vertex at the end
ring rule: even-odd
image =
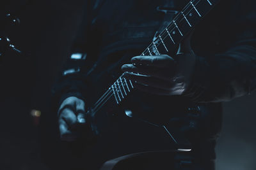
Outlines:
{"type": "Polygon", "coordinates": [[[60,138],[63,141],[75,141],[86,128],[84,101],[77,97],[68,97],[58,110],[60,138]]]}

